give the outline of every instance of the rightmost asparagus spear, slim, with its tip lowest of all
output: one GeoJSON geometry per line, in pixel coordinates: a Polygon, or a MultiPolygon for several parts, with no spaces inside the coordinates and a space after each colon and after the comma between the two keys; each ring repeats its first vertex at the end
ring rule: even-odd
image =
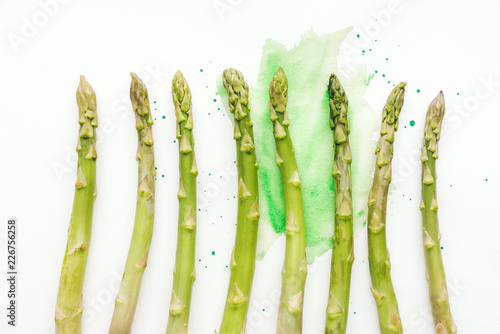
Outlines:
{"type": "Polygon", "coordinates": [[[436,160],[438,142],[444,117],[444,96],[441,91],[427,109],[424,139],[422,140],[422,212],[423,243],[429,298],[436,333],[456,333],[448,300],[448,289],[441,257],[441,234],[439,233],[438,205],[436,198],[436,160]]]}

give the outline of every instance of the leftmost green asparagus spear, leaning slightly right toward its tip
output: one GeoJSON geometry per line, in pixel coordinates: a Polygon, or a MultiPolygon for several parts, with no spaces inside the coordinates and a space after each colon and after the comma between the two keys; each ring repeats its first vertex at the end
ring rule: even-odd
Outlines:
{"type": "Polygon", "coordinates": [[[83,76],[80,76],[76,100],[79,111],[78,123],[80,123],[76,147],[78,171],[68,242],[57,293],[55,321],[58,334],[81,333],[83,280],[92,231],[94,200],[97,196],[96,96],[83,76]]]}

